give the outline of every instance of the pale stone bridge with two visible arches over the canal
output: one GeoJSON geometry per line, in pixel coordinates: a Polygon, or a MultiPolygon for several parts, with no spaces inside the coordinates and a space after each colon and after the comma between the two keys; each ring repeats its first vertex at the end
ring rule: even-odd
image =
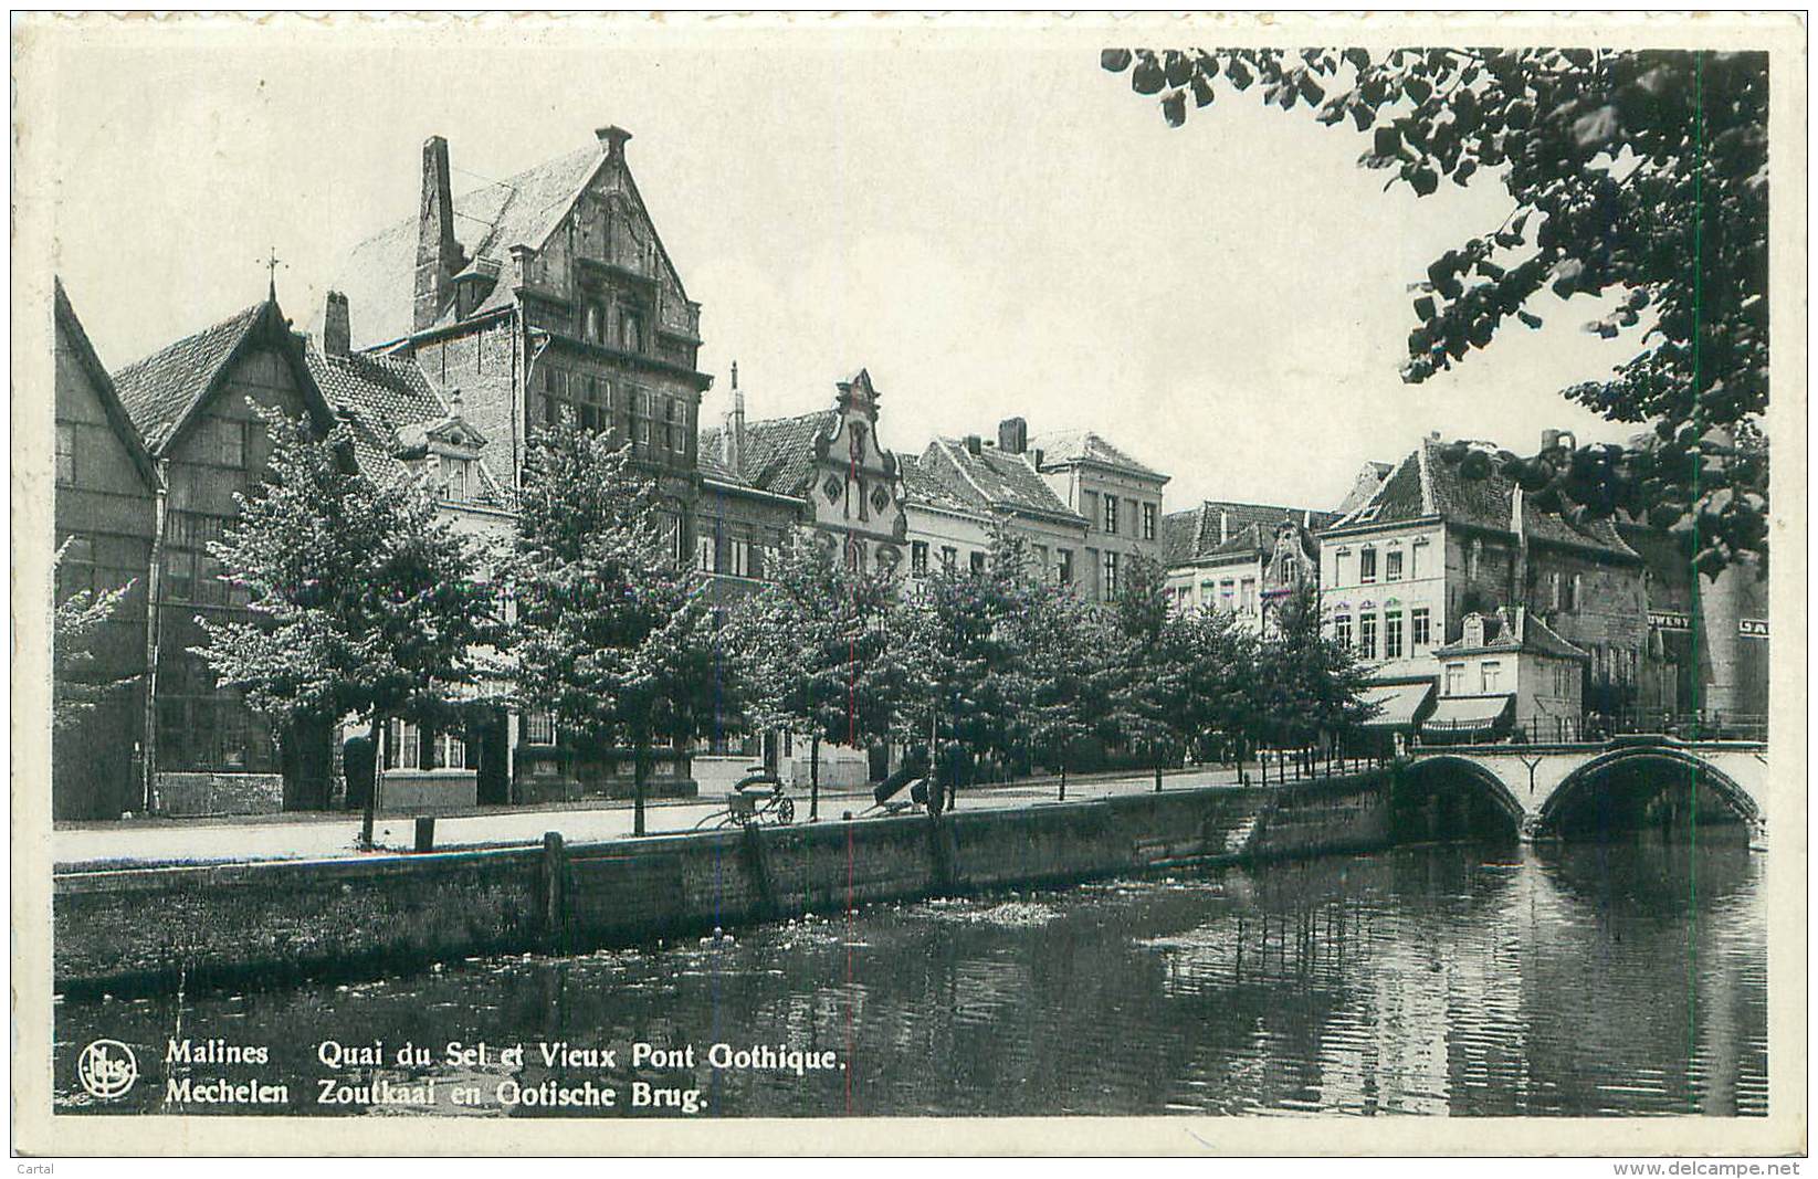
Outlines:
{"type": "Polygon", "coordinates": [[[1409,750],[1414,781],[1443,774],[1514,821],[1522,839],[1558,834],[1569,805],[1603,788],[1616,770],[1685,774],[1707,787],[1749,828],[1749,847],[1767,847],[1767,743],[1678,741],[1627,736],[1571,745],[1445,745],[1409,750]]]}

